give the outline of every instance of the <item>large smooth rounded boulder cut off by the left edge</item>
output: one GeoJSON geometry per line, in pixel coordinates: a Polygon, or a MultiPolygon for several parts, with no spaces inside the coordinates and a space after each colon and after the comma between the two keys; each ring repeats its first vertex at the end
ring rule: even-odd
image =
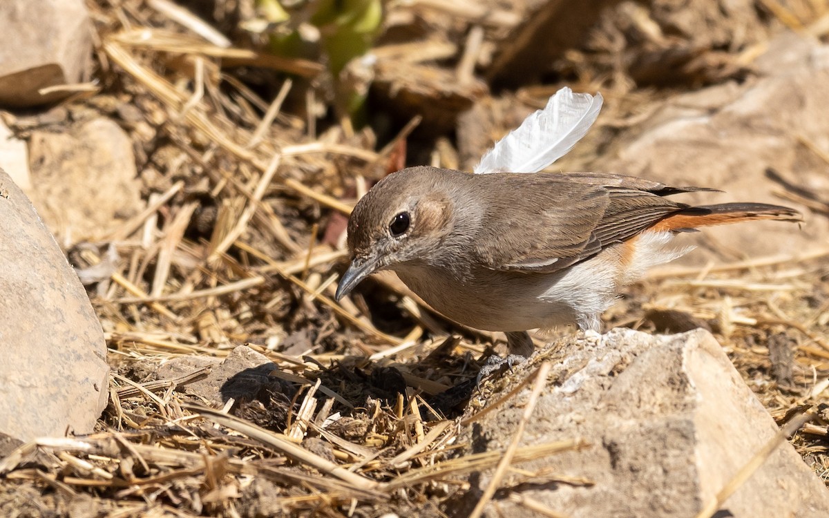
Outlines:
{"type": "Polygon", "coordinates": [[[90,433],[109,395],[106,344],[75,271],[0,170],[0,433],[90,433]]]}

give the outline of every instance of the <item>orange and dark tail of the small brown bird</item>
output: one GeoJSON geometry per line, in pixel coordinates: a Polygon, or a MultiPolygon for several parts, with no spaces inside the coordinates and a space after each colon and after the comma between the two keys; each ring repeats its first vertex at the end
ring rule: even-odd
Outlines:
{"type": "Polygon", "coordinates": [[[802,221],[800,212],[788,207],[765,203],[721,203],[688,207],[668,215],[651,227],[652,230],[682,232],[701,226],[727,225],[749,220],[802,221]]]}

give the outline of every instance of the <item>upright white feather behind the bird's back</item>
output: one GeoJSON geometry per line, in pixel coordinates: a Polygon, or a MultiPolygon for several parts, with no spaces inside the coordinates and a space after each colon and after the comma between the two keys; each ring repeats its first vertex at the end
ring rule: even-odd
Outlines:
{"type": "Polygon", "coordinates": [[[602,94],[574,94],[562,88],[550,97],[545,109],[531,114],[495,143],[475,173],[541,171],[584,137],[599,116],[602,101],[602,94]]]}

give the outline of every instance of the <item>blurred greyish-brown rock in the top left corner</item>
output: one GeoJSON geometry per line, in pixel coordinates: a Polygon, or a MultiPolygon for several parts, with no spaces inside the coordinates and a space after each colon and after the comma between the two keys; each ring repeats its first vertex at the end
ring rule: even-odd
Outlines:
{"type": "Polygon", "coordinates": [[[0,33],[0,104],[50,103],[67,93],[38,90],[89,80],[92,27],[83,0],[3,0],[0,33]]]}

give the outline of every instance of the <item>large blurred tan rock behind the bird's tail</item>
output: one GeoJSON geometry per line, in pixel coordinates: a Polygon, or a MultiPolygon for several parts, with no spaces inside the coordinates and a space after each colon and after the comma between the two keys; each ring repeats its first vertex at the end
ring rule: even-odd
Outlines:
{"type": "Polygon", "coordinates": [[[827,243],[829,220],[775,196],[784,189],[767,176],[770,168],[807,191],[829,191],[826,162],[801,142],[806,138],[829,152],[829,118],[823,109],[823,92],[829,90],[827,51],[829,46],[797,36],[779,37],[758,60],[759,77],[676,95],[617,138],[615,152],[595,162],[594,170],[725,191],[677,198],[681,201],[775,203],[793,206],[806,217],[801,229],[752,222],[683,237],[701,248],[681,259],[686,263],[807,251],[827,243]]]}

